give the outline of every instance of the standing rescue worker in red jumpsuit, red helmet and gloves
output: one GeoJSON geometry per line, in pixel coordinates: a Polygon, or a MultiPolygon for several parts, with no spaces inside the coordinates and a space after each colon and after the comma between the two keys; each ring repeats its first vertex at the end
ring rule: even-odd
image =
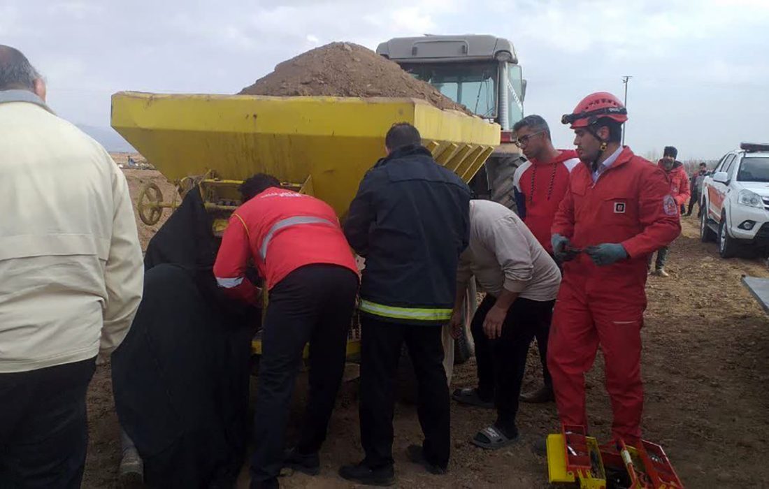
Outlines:
{"type": "Polygon", "coordinates": [[[588,426],[584,374],[600,346],[614,421],[611,434],[641,437],[641,327],[646,261],[681,232],[664,171],[621,146],[628,112],[597,92],[562,122],[571,124],[581,165],[571,172],[552,227],[564,275],[548,343],[548,367],[561,423],[588,426]]]}

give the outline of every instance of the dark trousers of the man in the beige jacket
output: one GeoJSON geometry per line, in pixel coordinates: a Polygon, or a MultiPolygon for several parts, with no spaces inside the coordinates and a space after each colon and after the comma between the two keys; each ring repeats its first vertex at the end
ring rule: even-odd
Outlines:
{"type": "Polygon", "coordinates": [[[0,374],[0,487],[80,487],[96,359],[0,374]]]}

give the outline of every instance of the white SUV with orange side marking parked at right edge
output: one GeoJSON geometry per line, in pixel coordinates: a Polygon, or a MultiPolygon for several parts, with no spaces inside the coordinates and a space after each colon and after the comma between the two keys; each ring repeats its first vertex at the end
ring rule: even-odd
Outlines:
{"type": "Polygon", "coordinates": [[[739,248],[769,248],[769,145],[743,143],[702,184],[702,241],[731,258],[739,248]]]}

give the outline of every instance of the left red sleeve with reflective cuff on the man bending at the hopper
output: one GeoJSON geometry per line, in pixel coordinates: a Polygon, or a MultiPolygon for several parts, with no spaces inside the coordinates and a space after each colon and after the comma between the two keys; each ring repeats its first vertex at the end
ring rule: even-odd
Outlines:
{"type": "Polygon", "coordinates": [[[214,264],[214,276],[218,286],[225,290],[225,294],[260,307],[259,288],[245,276],[250,258],[248,229],[241,217],[233,212],[225,234],[221,237],[221,246],[214,264]]]}

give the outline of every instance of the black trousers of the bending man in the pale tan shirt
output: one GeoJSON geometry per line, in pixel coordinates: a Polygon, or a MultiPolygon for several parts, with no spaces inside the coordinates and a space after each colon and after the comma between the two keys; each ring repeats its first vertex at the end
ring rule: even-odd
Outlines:
{"type": "MultiPolygon", "coordinates": [[[[490,294],[484,298],[473,316],[471,331],[478,362],[478,394],[485,400],[495,399],[497,424],[509,432],[514,431],[528,348],[534,338],[542,361],[547,358],[555,301],[516,299],[504,318],[501,338],[490,340],[483,331],[483,323],[495,301],[490,294]]],[[[547,369],[545,375],[545,383],[551,384],[547,369]]]]}

